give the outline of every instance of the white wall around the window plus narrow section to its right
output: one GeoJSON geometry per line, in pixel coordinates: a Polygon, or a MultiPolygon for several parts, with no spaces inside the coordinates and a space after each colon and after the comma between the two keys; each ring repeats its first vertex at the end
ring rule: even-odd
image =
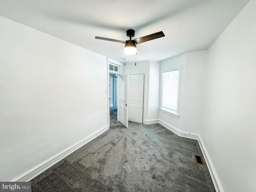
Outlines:
{"type": "Polygon", "coordinates": [[[182,65],[180,117],[176,118],[162,111],[159,112],[159,119],[162,122],[177,128],[181,132],[198,134],[202,127],[206,53],[206,51],[189,52],[161,62],[161,70],[182,65]]]}

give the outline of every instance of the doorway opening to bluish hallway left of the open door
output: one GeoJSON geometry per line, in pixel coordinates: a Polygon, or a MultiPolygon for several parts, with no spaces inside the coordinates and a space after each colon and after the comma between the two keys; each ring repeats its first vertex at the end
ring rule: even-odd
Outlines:
{"type": "Polygon", "coordinates": [[[117,121],[118,114],[118,80],[116,74],[109,74],[110,126],[117,121]]]}

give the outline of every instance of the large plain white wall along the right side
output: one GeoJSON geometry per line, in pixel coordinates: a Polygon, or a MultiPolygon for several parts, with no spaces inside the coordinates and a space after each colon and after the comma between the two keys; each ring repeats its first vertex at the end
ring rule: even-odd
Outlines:
{"type": "Polygon", "coordinates": [[[202,140],[225,192],[256,191],[256,0],[208,50],[202,140]]]}

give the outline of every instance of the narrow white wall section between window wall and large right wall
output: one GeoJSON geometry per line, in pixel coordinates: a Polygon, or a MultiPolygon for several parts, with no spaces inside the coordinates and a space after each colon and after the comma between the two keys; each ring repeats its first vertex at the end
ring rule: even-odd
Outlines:
{"type": "Polygon", "coordinates": [[[182,108],[182,131],[184,132],[198,134],[202,127],[206,58],[206,51],[187,53],[182,108]]]}

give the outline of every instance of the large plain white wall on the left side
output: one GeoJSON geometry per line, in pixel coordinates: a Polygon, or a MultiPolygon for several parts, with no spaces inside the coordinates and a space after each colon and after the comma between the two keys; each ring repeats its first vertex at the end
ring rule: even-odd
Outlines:
{"type": "Polygon", "coordinates": [[[10,181],[107,126],[108,77],[104,56],[0,26],[0,180],[10,181]]]}

